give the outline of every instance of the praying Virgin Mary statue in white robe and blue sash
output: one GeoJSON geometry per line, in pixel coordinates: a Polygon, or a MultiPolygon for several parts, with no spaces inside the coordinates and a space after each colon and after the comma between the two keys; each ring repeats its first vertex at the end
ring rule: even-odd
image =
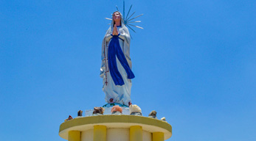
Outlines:
{"type": "Polygon", "coordinates": [[[111,26],[105,33],[102,44],[103,92],[107,103],[131,104],[130,33],[120,12],[112,15],[111,26]]]}

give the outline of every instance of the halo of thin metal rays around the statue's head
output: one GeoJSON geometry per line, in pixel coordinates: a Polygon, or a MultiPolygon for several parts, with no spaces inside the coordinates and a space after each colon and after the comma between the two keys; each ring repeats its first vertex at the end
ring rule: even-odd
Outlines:
{"type": "MultiPolygon", "coordinates": [[[[116,7],[117,7],[117,6],[116,6],[116,7]]],[[[131,4],[131,7],[133,7],[132,4],[131,4]]],[[[140,22],[142,22],[142,21],[134,21],[134,19],[139,18],[139,17],[142,16],[143,14],[137,15],[136,17],[131,18],[131,17],[134,15],[134,13],[135,13],[135,12],[133,12],[131,15],[129,15],[130,12],[131,12],[131,7],[129,8],[128,14],[126,15],[126,18],[125,18],[125,0],[124,0],[124,1],[123,1],[123,13],[122,13],[122,15],[123,15],[123,20],[124,20],[124,22],[125,22],[125,26],[128,26],[129,29],[131,29],[133,32],[135,32],[135,30],[134,30],[133,28],[131,28],[131,26],[137,27],[137,28],[139,28],[139,29],[143,29],[143,28],[140,27],[140,26],[135,26],[134,24],[131,24],[131,23],[140,23],[140,22]]],[[[118,10],[118,7],[117,7],[117,11],[120,11],[120,10],[118,10]]],[[[105,19],[112,21],[111,18],[105,18],[105,19]]],[[[135,32],[135,33],[136,33],[136,32],[135,32]]]]}

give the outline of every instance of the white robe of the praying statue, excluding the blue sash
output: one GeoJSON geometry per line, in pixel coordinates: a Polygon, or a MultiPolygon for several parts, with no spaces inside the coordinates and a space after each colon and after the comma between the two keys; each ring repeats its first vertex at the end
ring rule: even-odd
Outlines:
{"type": "MultiPolygon", "coordinates": [[[[113,25],[113,22],[112,22],[113,25]]],[[[111,25],[111,27],[113,27],[111,25]]],[[[122,52],[125,55],[125,58],[128,62],[129,67],[131,68],[131,59],[130,59],[130,34],[128,29],[124,24],[123,26],[117,27],[119,35],[119,43],[122,48],[122,52]]],[[[108,32],[105,34],[103,39],[103,48],[102,48],[102,65],[100,68],[100,77],[103,78],[103,92],[105,93],[105,101],[111,103],[109,100],[113,98],[113,102],[124,104],[128,106],[128,103],[131,102],[131,79],[128,79],[125,69],[122,67],[119,59],[117,58],[117,68],[125,84],[122,86],[115,85],[113,79],[111,78],[111,73],[108,69],[108,44],[111,41],[114,28],[109,28],[108,32]]]]}

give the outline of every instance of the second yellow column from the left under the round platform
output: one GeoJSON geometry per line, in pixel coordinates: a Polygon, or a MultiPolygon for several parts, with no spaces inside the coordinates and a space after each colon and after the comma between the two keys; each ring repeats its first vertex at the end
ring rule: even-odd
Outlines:
{"type": "Polygon", "coordinates": [[[107,139],[107,127],[94,126],[94,141],[106,141],[106,139],[107,139]]]}

